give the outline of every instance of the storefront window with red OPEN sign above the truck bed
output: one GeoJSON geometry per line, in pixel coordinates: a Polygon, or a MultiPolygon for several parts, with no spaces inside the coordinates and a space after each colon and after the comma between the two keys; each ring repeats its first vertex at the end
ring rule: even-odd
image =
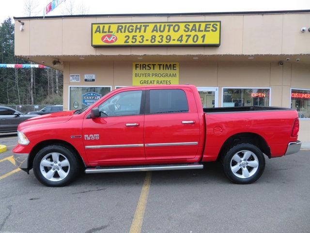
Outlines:
{"type": "Polygon", "coordinates": [[[270,89],[223,88],[223,107],[269,106],[270,89]]]}

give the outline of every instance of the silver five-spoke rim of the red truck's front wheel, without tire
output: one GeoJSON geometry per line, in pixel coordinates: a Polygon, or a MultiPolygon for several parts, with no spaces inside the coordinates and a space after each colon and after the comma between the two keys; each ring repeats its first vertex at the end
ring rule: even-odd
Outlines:
{"type": "Polygon", "coordinates": [[[40,171],[49,181],[61,181],[70,171],[69,160],[60,153],[48,153],[40,162],[40,171]]]}

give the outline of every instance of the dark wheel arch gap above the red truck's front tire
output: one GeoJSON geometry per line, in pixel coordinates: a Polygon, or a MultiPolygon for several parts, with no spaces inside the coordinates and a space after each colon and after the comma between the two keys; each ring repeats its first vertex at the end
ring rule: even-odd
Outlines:
{"type": "Polygon", "coordinates": [[[65,148],[67,148],[68,150],[73,151],[77,155],[77,159],[78,159],[80,166],[86,167],[82,156],[79,154],[78,150],[74,146],[72,146],[70,143],[63,141],[63,140],[49,139],[49,140],[39,142],[38,144],[36,144],[32,148],[32,150],[29,154],[29,160],[28,160],[28,167],[29,167],[28,169],[29,170],[32,169],[34,157],[39,152],[39,150],[41,150],[42,148],[44,148],[46,146],[50,146],[50,145],[61,145],[61,146],[64,146],[65,148]]]}

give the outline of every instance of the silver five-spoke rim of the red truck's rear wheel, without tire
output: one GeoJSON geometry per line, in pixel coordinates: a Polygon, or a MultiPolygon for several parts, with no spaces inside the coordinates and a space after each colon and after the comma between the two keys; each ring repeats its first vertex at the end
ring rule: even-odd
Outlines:
{"type": "Polygon", "coordinates": [[[233,155],[231,170],[236,177],[249,178],[258,169],[258,158],[249,150],[241,150],[233,155]]]}

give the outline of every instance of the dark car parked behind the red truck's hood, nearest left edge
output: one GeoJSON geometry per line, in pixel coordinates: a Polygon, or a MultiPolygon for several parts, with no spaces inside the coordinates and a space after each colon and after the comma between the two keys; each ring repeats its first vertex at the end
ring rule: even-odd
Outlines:
{"type": "Polygon", "coordinates": [[[34,116],[39,115],[23,114],[13,108],[0,106],[0,133],[17,132],[19,123],[34,116]]]}

